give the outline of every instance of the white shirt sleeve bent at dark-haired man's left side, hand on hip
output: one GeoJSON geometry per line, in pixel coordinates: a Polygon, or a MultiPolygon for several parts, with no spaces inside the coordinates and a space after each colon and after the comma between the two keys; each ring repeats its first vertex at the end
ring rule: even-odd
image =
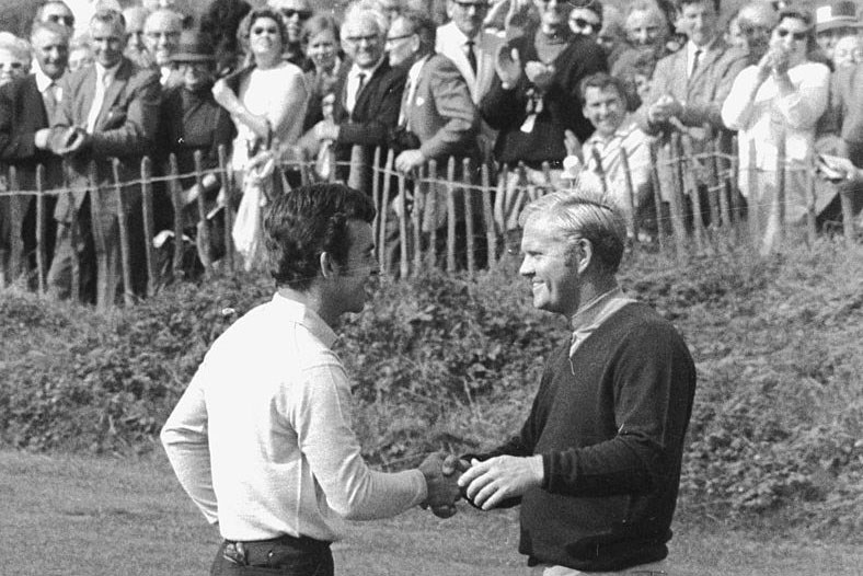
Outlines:
{"type": "Polygon", "coordinates": [[[207,406],[202,385],[206,373],[205,359],[162,427],[161,440],[183,489],[207,521],[215,525],[219,517],[212,489],[207,406]]]}

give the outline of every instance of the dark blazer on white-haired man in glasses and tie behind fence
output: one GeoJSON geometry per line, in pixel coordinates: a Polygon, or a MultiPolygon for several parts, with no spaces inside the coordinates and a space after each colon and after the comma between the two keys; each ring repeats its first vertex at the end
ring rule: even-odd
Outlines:
{"type": "Polygon", "coordinates": [[[384,59],[366,81],[363,91],[357,95],[353,113],[348,115],[345,110],[347,92],[347,74],[345,74],[342,85],[337,87],[336,94],[340,94],[340,97],[336,99],[334,111],[335,122],[341,126],[336,141],[338,160],[349,160],[354,145],[369,149],[387,146],[390,131],[399,123],[399,110],[406,77],[407,70],[404,67],[391,68],[384,59]]]}

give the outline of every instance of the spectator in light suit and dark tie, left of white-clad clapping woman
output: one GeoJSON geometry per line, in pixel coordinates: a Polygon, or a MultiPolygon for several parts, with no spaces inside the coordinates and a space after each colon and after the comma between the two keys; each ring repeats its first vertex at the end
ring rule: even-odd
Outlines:
{"type": "MultiPolygon", "coordinates": [[[[679,22],[687,44],[657,62],[649,93],[636,112],[638,126],[661,138],[657,170],[666,201],[676,185],[670,164],[678,155],[670,146],[672,133],[692,136],[697,154],[712,152],[714,141],[730,152],[730,135],[724,133],[720,111],[732,82],[746,67],[746,55],[730,48],[722,37],[718,0],[681,0],[680,7],[679,22]]],[[[701,217],[709,220],[706,183],[698,182],[698,188],[701,217]]],[[[694,200],[687,200],[686,214],[690,218],[694,200]]]]}

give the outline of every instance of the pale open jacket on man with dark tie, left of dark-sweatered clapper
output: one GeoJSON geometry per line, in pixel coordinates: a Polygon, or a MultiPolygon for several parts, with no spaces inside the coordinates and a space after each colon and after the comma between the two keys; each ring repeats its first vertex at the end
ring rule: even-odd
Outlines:
{"type": "Polygon", "coordinates": [[[464,54],[464,35],[459,31],[454,22],[448,22],[442,26],[438,26],[435,50],[453,61],[456,68],[468,82],[473,103],[479,105],[482,97],[492,88],[492,81],[496,77],[494,61],[497,58],[497,50],[506,42],[504,38],[484,31],[480,32],[474,42],[476,43],[474,45],[476,53],[475,73],[468,61],[468,56],[464,54]]]}

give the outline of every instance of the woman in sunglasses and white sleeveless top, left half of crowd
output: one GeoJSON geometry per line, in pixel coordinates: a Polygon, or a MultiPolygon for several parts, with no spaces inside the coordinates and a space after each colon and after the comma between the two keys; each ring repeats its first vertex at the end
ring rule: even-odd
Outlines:
{"type": "Polygon", "coordinates": [[[302,70],[281,59],[285,24],[269,8],[252,10],[242,24],[252,64],[212,88],[237,125],[232,164],[242,174],[258,151],[290,148],[299,138],[308,92],[302,70]]]}

